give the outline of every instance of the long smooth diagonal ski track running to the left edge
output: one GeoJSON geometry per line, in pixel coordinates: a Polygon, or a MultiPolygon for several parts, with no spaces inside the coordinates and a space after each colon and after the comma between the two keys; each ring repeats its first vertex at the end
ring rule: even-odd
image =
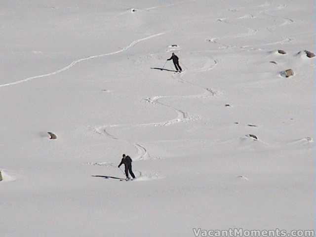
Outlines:
{"type": "Polygon", "coordinates": [[[90,59],[94,59],[94,58],[99,58],[99,57],[104,57],[104,56],[109,56],[109,55],[114,55],[114,54],[118,54],[120,52],[123,52],[127,49],[129,49],[130,47],[133,47],[135,44],[141,42],[141,41],[144,41],[144,40],[149,40],[149,39],[152,39],[152,38],[155,38],[155,37],[158,37],[158,36],[161,36],[161,35],[164,35],[166,34],[166,32],[161,32],[161,33],[158,33],[158,34],[155,34],[155,35],[151,35],[151,36],[148,36],[148,37],[145,37],[145,38],[141,38],[141,39],[138,39],[138,40],[134,40],[132,41],[129,45],[123,47],[122,49],[120,50],[117,50],[117,51],[114,51],[114,52],[110,52],[110,53],[104,53],[104,54],[99,54],[99,55],[93,55],[93,56],[88,56],[88,57],[84,57],[84,58],[80,58],[78,60],[75,60],[73,61],[72,63],[70,63],[69,65],[67,65],[66,67],[63,67],[57,71],[54,71],[54,72],[51,72],[51,73],[46,73],[46,74],[42,74],[42,75],[38,75],[38,76],[33,76],[33,77],[30,77],[30,78],[26,78],[26,79],[22,79],[22,80],[18,80],[18,81],[14,81],[14,82],[9,82],[9,83],[5,83],[5,84],[0,84],[0,87],[4,87],[4,86],[11,86],[11,85],[16,85],[16,84],[20,84],[20,83],[23,83],[23,82],[26,82],[26,81],[29,81],[29,80],[33,80],[33,79],[38,79],[38,78],[45,78],[45,77],[49,77],[49,76],[53,76],[53,75],[56,75],[56,74],[60,74],[70,68],[72,68],[73,66],[75,66],[76,64],[82,62],[82,61],[87,61],[87,60],[90,60],[90,59]]]}

